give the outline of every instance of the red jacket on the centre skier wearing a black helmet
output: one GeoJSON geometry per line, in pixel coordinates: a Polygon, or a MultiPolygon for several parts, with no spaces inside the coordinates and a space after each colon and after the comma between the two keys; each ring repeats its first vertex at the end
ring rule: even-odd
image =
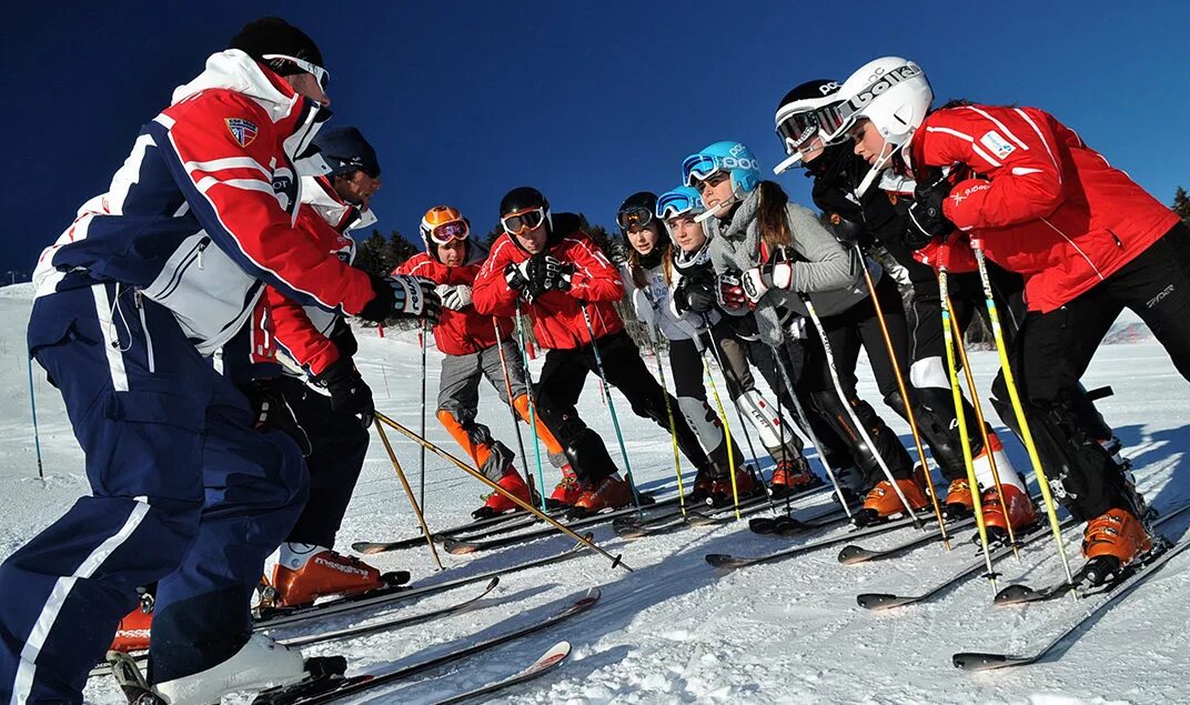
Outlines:
{"type": "MultiPolygon", "coordinates": [[[[568,219],[558,213],[553,220],[560,225],[568,219]]],[[[563,229],[559,227],[559,232],[563,229]]],[[[591,342],[583,320],[583,308],[591,319],[596,338],[624,330],[624,322],[614,304],[624,298],[624,283],[607,256],[587,233],[575,229],[570,235],[551,235],[547,252],[575,266],[570,291],[551,291],[533,301],[521,301],[521,311],[533,319],[533,335],[538,345],[571,350],[591,342]]],[[[512,241],[507,232],[491,247],[491,255],[475,277],[472,297],[475,308],[489,316],[515,314],[518,293],[505,280],[505,267],[530,258],[528,252],[512,241]]]]}

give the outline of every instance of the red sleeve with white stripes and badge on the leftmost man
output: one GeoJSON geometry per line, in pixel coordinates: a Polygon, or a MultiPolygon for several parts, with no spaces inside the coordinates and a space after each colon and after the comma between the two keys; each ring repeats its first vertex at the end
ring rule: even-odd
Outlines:
{"type": "Polygon", "coordinates": [[[364,272],[295,231],[273,188],[273,168],[288,161],[277,154],[280,136],[258,105],[231,92],[207,92],[167,110],[149,132],[207,235],[250,275],[327,311],[359,313],[375,298],[364,272]],[[232,131],[234,120],[240,137],[232,131]]]}

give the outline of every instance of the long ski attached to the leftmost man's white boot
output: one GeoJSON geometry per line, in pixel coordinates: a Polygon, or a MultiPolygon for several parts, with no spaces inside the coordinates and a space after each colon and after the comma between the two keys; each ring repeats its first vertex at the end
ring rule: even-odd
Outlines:
{"type": "Polygon", "coordinates": [[[497,635],[480,642],[475,642],[466,647],[452,649],[440,656],[427,659],[425,661],[418,661],[408,666],[393,668],[390,670],[365,674],[362,676],[346,678],[343,680],[352,682],[344,682],[342,686],[336,687],[333,691],[326,693],[308,694],[308,693],[296,692],[294,691],[293,686],[270,688],[268,691],[261,692],[256,697],[256,699],[252,700],[252,703],[253,705],[317,705],[319,703],[330,703],[339,698],[357,695],[359,693],[370,691],[371,688],[375,688],[377,686],[397,682],[412,675],[416,675],[419,673],[438,668],[439,666],[445,666],[446,663],[452,663],[455,661],[465,659],[468,656],[474,656],[475,654],[487,651],[501,644],[506,644],[511,641],[528,636],[531,634],[536,634],[538,631],[543,631],[545,629],[549,629],[550,626],[553,626],[555,624],[558,624],[560,622],[564,622],[565,619],[569,619],[570,617],[574,617],[575,614],[580,614],[589,610],[599,601],[599,599],[600,599],[600,589],[597,587],[593,587],[588,589],[582,597],[575,598],[574,601],[571,601],[569,605],[566,605],[558,612],[555,612],[550,617],[539,619],[537,622],[527,624],[526,626],[507,631],[502,635],[497,635]],[[367,680],[361,680],[361,679],[367,679],[367,680]]]}

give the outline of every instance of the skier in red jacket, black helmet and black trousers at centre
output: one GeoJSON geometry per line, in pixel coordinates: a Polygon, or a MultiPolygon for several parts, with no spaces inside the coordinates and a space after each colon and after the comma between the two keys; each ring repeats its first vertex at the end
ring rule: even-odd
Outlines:
{"type": "MultiPolygon", "coordinates": [[[[533,320],[538,344],[550,349],[536,385],[537,403],[578,474],[571,516],[625,506],[632,501],[631,488],[619,478],[603,439],[575,407],[587,373],[599,374],[599,355],[607,383],[628,398],[632,411],[669,431],[665,392],[615,311],[624,298],[620,273],[580,230],[578,217],[551,214],[536,188],[508,192],[500,202],[500,224],[505,232],[475,277],[475,308],[514,316],[519,307],[533,320]]],[[[670,397],[669,406],[677,407],[677,400],[670,397]]],[[[682,451],[709,473],[697,436],[681,414],[674,420],[682,451]]]]}

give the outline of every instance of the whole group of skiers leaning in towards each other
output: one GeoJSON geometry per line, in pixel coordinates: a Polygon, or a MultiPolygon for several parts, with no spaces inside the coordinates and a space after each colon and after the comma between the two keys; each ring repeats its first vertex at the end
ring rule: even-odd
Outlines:
{"type": "Polygon", "coordinates": [[[113,634],[115,648],[151,645],[149,681],[170,703],[292,682],[301,655],[252,632],[265,559],[280,553],[262,599],[281,606],[393,581],[334,550],[375,418],[352,316],[433,326],[436,417],[507,493],[476,518],[515,510],[509,495],[540,500],[525,443],[514,453],[478,418],[481,378],[560,473],[547,506],[649,501],[624,438],[618,463],[576,408],[595,374],[672,435],[697,470],[688,503],[820,486],[809,442],[839,500],[860,503],[858,524],[937,501],[940,519],[982,510],[1002,539],[1040,514],[944,362],[948,322],[962,335],[994,304],[1012,374],[991,405],[1086,522],[1084,555],[1108,573],[1150,548],[1145,503],[1079,379],[1123,307],[1190,379],[1190,230],[1048,113],[934,108],[921,68],[884,57],[802,83],[776,111],[776,170],[804,168],[829,226],[763,180],[747,146],[716,142],[683,160],[675,188],[625,199],[621,268],[577,216],[519,187],[490,248],[434,206],[425,251],[382,277],[351,267],[349,235],[375,219],[380,162],[357,129],[319,131],[326,77],[300,30],[250,23],[43,252],[30,352],[62,392],[93,494],[0,566],[7,701],[80,701],[113,634]],[[908,307],[876,249],[908,272],[908,307]],[[668,341],[674,395],[625,330],[626,297],[650,341],[668,341]],[[525,318],[547,350],[536,382],[525,318]],[[945,492],[858,395],[860,348],[945,492]],[[708,394],[712,368],[751,454],[750,429],[771,456],[768,479],[708,394]]]}

